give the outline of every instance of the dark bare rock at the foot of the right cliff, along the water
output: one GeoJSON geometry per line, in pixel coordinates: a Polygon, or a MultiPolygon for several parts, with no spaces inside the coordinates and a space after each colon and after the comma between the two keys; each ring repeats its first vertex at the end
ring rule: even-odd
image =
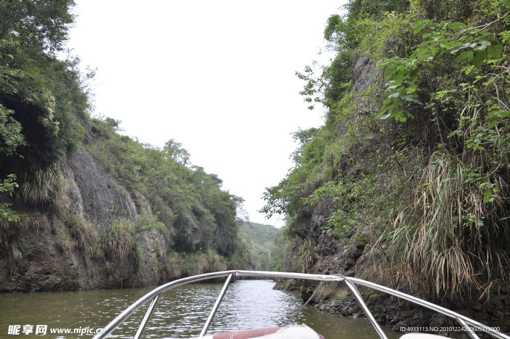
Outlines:
{"type": "MultiPolygon", "coordinates": [[[[321,226],[327,226],[326,217],[331,213],[327,206],[328,202],[322,201],[316,206],[305,208],[295,226],[296,233],[300,237],[311,239],[314,252],[317,254],[317,261],[311,268],[310,273],[341,274],[388,285],[389,281],[379,279],[381,271],[386,270],[388,266],[384,253],[381,253],[381,250],[384,251],[384,249],[375,248],[372,244],[356,244],[354,236],[350,238],[351,242],[346,244],[342,241],[345,239],[341,240],[336,234],[321,232],[321,226]]],[[[356,231],[356,229],[352,230],[353,233],[356,231]]],[[[289,251],[292,252],[292,249],[291,247],[289,251]]],[[[284,270],[293,271],[293,268],[287,265],[284,270]]],[[[282,281],[278,285],[276,288],[289,288],[289,283],[286,281],[282,281]]],[[[318,283],[316,282],[301,281],[302,299],[308,300],[317,286],[318,283]]],[[[290,287],[293,288],[294,286],[291,284],[290,287]]],[[[410,292],[405,287],[399,289],[404,293],[410,292]]],[[[399,331],[401,327],[458,326],[455,321],[437,312],[389,297],[373,289],[360,288],[360,292],[377,322],[390,326],[396,331],[399,331]]],[[[494,291],[489,300],[486,297],[479,299],[479,293],[465,295],[463,299],[449,300],[438,300],[435,296],[424,292],[415,292],[413,295],[440,304],[483,324],[500,327],[502,332],[508,333],[510,331],[510,296],[508,290],[494,291]]],[[[342,282],[326,283],[318,291],[313,303],[315,307],[324,312],[354,318],[365,317],[358,302],[342,282]]],[[[458,331],[436,334],[449,337],[464,337],[463,335],[465,335],[458,331]]]]}

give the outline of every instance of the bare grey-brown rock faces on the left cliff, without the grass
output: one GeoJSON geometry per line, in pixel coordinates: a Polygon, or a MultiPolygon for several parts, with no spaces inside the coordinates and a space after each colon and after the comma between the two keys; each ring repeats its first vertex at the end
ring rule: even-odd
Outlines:
{"type": "MultiPolygon", "coordinates": [[[[135,202],[85,148],[61,170],[69,184],[69,213],[97,225],[100,231],[119,218],[135,222],[141,214],[152,216],[147,199],[136,193],[135,202]]],[[[79,246],[62,250],[58,246],[63,235],[58,217],[47,213],[39,219],[36,229],[21,232],[16,238],[16,247],[22,253],[18,264],[11,265],[10,253],[0,253],[0,292],[146,287],[160,282],[168,248],[168,235],[162,231],[138,232],[136,253],[115,263],[104,255],[88,255],[79,246]]]]}

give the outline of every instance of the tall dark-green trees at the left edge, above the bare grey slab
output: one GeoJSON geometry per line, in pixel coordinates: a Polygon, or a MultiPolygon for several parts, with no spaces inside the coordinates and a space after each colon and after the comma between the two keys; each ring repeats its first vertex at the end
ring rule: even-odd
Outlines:
{"type": "Polygon", "coordinates": [[[54,208],[65,208],[58,167],[78,146],[88,108],[78,60],[55,57],[73,6],[0,3],[0,178],[17,174],[25,202],[54,208]]]}

